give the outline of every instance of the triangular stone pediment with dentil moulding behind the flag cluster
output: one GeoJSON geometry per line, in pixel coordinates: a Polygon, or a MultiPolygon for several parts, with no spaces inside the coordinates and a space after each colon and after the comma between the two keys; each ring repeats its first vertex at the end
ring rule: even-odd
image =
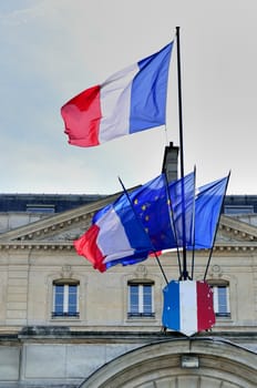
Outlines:
{"type": "MultiPolygon", "coordinates": [[[[68,231],[86,229],[94,213],[112,203],[119,195],[120,193],[7,232],[0,235],[0,249],[73,251],[73,238],[60,239],[54,236],[68,231]]],[[[226,235],[229,238],[216,239],[214,251],[217,253],[253,253],[257,249],[257,227],[230,216],[222,215],[218,235],[226,235]]]]}

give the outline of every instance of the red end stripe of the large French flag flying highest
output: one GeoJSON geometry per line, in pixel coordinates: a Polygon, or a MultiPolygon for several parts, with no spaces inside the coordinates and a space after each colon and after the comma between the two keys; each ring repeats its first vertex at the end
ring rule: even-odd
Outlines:
{"type": "Polygon", "coordinates": [[[79,146],[99,145],[102,118],[100,85],[86,89],[61,109],[69,143],[79,146]]]}

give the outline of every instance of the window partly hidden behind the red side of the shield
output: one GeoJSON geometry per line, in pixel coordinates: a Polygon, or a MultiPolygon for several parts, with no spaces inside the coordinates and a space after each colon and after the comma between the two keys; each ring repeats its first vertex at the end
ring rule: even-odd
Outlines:
{"type": "Polygon", "coordinates": [[[230,317],[228,284],[212,285],[214,293],[214,312],[216,317],[230,317]]]}

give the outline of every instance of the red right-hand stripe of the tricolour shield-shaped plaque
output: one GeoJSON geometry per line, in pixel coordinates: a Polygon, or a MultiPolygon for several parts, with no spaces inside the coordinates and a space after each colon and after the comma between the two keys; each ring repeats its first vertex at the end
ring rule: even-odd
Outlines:
{"type": "Polygon", "coordinates": [[[213,290],[205,282],[196,282],[197,331],[207,330],[215,324],[213,290]]]}

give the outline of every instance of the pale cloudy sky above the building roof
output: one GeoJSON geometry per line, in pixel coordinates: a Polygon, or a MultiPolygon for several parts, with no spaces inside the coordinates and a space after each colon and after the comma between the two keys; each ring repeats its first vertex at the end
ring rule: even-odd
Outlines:
{"type": "Polygon", "coordinates": [[[0,192],[113,194],[161,173],[179,145],[177,67],[166,126],[96,147],[68,144],[60,109],[158,51],[181,29],[185,174],[230,171],[227,194],[257,194],[256,0],[0,1],[0,192]]]}

